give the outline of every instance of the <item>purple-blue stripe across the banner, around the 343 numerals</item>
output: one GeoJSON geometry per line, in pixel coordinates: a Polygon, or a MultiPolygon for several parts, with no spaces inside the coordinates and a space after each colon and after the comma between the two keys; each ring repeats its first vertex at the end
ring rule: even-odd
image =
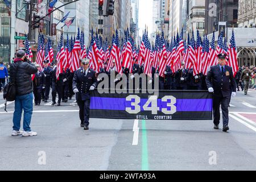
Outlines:
{"type": "MultiPolygon", "coordinates": [[[[142,98],[140,102],[141,110],[143,111],[143,105],[146,104],[148,99],[142,98]]],[[[212,99],[177,99],[176,100],[177,111],[212,111],[212,99]]],[[[125,110],[126,107],[131,107],[131,101],[126,101],[126,98],[109,98],[109,97],[92,97],[90,100],[90,109],[96,110],[125,110]]],[[[167,107],[167,102],[162,102],[158,99],[158,107],[160,111],[163,108],[171,110],[167,107]]]]}

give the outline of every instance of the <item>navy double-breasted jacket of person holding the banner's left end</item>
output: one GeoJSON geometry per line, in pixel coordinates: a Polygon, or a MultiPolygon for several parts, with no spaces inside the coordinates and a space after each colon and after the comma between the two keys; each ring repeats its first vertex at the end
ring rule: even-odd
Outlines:
{"type": "Polygon", "coordinates": [[[96,72],[88,70],[85,76],[84,69],[77,69],[73,78],[73,90],[78,89],[76,100],[85,101],[90,99],[90,86],[97,87],[96,72]]]}

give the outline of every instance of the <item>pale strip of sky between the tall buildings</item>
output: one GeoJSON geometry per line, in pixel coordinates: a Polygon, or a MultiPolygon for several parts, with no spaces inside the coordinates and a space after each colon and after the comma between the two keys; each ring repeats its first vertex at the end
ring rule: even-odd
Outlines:
{"type": "Polygon", "coordinates": [[[142,31],[145,29],[145,24],[148,27],[148,35],[152,31],[152,0],[139,1],[139,35],[142,36],[142,31]]]}

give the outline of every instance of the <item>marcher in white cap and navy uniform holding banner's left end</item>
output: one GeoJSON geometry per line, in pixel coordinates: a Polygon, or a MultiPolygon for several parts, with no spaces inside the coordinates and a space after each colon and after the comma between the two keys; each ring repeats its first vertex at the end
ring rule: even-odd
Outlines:
{"type": "Polygon", "coordinates": [[[89,130],[90,90],[97,86],[96,72],[89,68],[89,59],[82,59],[82,68],[77,69],[73,78],[73,92],[76,93],[81,127],[89,130]]]}

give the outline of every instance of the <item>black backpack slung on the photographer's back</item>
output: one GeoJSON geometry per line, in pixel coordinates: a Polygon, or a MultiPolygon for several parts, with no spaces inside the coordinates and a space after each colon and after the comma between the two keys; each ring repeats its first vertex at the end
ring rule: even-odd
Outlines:
{"type": "Polygon", "coordinates": [[[15,74],[17,70],[17,65],[15,63],[10,64],[10,82],[5,85],[3,88],[3,99],[5,102],[5,111],[7,101],[14,101],[16,97],[16,88],[15,88],[15,74]]]}

